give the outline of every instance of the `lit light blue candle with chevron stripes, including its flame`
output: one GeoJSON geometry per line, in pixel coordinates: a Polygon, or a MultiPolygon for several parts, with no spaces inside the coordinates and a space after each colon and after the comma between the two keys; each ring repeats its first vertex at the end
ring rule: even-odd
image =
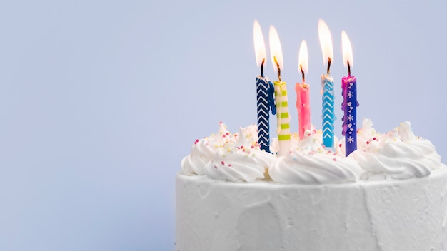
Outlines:
{"type": "Polygon", "coordinates": [[[328,65],[326,74],[321,75],[321,94],[323,94],[323,111],[321,113],[323,145],[326,148],[333,148],[333,125],[336,116],[333,110],[333,102],[335,100],[333,94],[333,77],[329,75],[331,61],[333,61],[333,49],[331,31],[329,31],[328,26],[322,19],[318,21],[318,36],[320,38],[321,51],[323,52],[323,64],[328,65]]]}

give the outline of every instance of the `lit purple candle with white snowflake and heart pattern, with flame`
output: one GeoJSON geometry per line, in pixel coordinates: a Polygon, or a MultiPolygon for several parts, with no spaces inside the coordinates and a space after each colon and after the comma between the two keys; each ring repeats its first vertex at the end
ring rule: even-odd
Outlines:
{"type": "Polygon", "coordinates": [[[343,47],[343,63],[348,66],[348,76],[341,78],[341,94],[343,103],[341,110],[344,111],[342,134],[345,136],[346,156],[357,150],[357,78],[351,76],[353,56],[351,41],[345,31],[341,32],[341,45],[343,47]]]}

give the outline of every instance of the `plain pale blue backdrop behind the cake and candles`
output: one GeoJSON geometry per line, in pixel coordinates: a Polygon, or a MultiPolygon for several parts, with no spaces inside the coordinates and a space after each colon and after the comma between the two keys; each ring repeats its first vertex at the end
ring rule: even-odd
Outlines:
{"type": "MultiPolygon", "coordinates": [[[[254,19],[265,39],[276,26],[291,103],[306,39],[317,128],[322,18],[334,43],[337,135],[344,29],[359,118],[381,132],[411,121],[447,156],[445,9],[441,0],[5,1],[0,250],[174,250],[181,158],[219,121],[232,132],[256,123],[254,19]]],[[[266,76],[276,79],[270,61],[266,76]]],[[[296,131],[293,106],[291,115],[296,131]]]]}

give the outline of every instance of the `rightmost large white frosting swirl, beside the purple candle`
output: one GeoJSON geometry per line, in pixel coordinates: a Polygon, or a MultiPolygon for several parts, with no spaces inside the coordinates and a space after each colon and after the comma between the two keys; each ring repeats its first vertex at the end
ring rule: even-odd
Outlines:
{"type": "MultiPolygon", "coordinates": [[[[373,130],[372,127],[370,129],[373,130]]],[[[389,133],[366,140],[349,157],[368,171],[362,175],[362,180],[425,177],[441,166],[441,156],[436,153],[434,145],[429,140],[416,137],[408,121],[389,133]]]]}

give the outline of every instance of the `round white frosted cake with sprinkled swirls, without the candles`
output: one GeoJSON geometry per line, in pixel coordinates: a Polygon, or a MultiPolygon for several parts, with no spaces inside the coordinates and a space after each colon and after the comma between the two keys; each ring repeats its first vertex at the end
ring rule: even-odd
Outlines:
{"type": "Polygon", "coordinates": [[[445,249],[447,167],[410,123],[381,134],[363,121],[348,157],[316,130],[283,157],[256,141],[256,126],[223,123],[195,141],[176,175],[175,250],[445,249]]]}

